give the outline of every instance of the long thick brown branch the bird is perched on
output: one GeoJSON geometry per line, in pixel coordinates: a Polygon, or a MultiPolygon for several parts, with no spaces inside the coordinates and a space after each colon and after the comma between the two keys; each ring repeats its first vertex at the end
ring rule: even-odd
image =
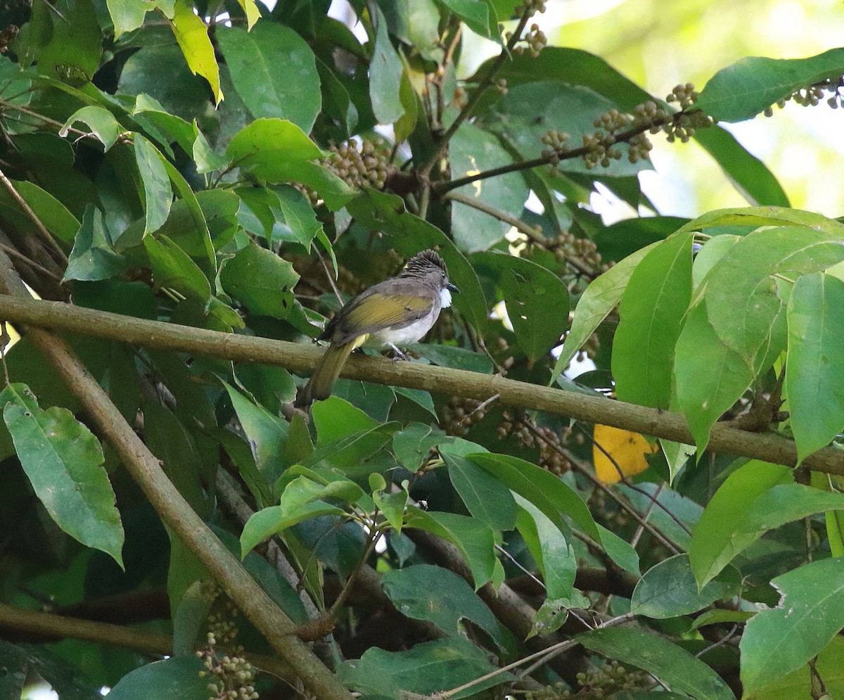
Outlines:
{"type": "MultiPolygon", "coordinates": [[[[2,252],[0,252],[2,255],[2,252]]],[[[0,319],[40,328],[58,328],[119,340],[157,350],[211,355],[230,361],[259,362],[293,372],[312,372],[322,350],[283,340],[225,334],[176,323],[148,321],[116,313],[73,307],[59,301],[0,296],[0,319]]],[[[392,362],[379,357],[350,357],[343,376],[484,401],[500,394],[500,403],[566,415],[577,421],[641,432],[675,442],[692,443],[685,417],[679,413],[625,404],[600,396],[542,387],[449,367],[392,362]]],[[[128,426],[127,426],[128,429],[128,426]]],[[[711,452],[735,454],[774,464],[797,464],[792,440],[771,433],[740,431],[722,423],[712,426],[711,452]]],[[[844,475],[844,453],[823,448],[803,460],[814,471],[844,475]]],[[[169,482],[168,482],[169,484],[169,482]]]]}

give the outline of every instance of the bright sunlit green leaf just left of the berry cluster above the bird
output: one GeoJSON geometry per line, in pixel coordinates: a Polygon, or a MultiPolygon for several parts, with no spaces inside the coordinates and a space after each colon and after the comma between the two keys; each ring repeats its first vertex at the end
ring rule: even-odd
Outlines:
{"type": "Polygon", "coordinates": [[[354,190],[311,160],[322,157],[307,134],[283,119],[256,119],[235,133],[226,155],[267,182],[300,182],[319,193],[329,209],[340,209],[354,190]]]}

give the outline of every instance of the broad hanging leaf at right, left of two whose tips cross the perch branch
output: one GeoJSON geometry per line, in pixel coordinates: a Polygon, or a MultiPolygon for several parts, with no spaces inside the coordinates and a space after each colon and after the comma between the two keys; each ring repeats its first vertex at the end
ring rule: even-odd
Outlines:
{"type": "Polygon", "coordinates": [[[692,307],[674,350],[679,409],[689,422],[697,453],[703,453],[715,421],[744,393],[755,372],[725,345],[706,317],[706,305],[692,307]]]}

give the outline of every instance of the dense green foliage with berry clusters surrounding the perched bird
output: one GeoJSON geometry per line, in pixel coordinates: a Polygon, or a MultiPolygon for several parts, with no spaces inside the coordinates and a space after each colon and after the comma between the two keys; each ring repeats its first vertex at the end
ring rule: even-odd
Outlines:
{"type": "Polygon", "coordinates": [[[546,46],[538,0],[356,2],[363,41],[329,4],[4,10],[0,288],[93,315],[0,299],[85,370],[43,332],[3,356],[0,689],[840,687],[844,224],[717,122],[841,106],[844,49],[661,99],[546,46]],[[500,54],[458,80],[468,32],[500,54]],[[661,216],[660,134],[748,206],[661,216]],[[640,215],[604,226],[598,188],[640,215]],[[307,341],[426,247],[461,290],[408,349],[428,378],[353,359],[293,410],[307,341]]]}

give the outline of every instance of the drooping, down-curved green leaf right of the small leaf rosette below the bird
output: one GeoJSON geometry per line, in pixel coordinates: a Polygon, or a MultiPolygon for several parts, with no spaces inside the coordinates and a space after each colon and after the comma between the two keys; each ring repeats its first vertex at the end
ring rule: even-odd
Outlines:
{"type": "Polygon", "coordinates": [[[489,525],[465,515],[424,511],[411,506],[404,526],[426,530],[456,545],[472,572],[475,590],[492,579],[496,561],[495,535],[489,525]]]}

